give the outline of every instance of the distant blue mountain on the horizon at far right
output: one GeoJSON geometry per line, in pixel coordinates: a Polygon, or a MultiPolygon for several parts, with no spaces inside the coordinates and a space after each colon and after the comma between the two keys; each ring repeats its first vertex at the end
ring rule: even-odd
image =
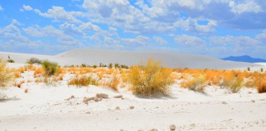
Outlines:
{"type": "Polygon", "coordinates": [[[229,56],[224,58],[225,61],[240,61],[240,62],[248,62],[248,63],[258,63],[258,62],[266,62],[265,59],[255,59],[251,56],[229,56]]]}

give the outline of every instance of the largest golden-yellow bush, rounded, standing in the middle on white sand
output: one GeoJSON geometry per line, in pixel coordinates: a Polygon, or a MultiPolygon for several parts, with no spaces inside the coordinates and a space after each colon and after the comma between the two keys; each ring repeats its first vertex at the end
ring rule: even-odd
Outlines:
{"type": "Polygon", "coordinates": [[[135,95],[167,95],[169,86],[174,83],[171,78],[172,70],[162,68],[160,61],[148,59],[144,66],[132,66],[127,74],[135,95]]]}

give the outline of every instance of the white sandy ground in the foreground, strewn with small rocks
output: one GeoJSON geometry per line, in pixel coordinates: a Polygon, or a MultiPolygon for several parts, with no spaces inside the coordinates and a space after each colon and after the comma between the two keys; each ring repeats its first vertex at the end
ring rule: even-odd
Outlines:
{"type": "Polygon", "coordinates": [[[169,95],[144,98],[128,91],[130,84],[123,84],[122,78],[117,91],[111,88],[109,80],[115,69],[87,68],[91,70],[86,72],[83,68],[82,72],[80,68],[62,68],[57,78],[43,82],[40,66],[8,63],[11,65],[20,73],[14,86],[1,90],[5,98],[0,101],[0,130],[170,130],[170,125],[175,130],[266,128],[265,93],[244,86],[232,93],[231,89],[208,85],[207,80],[202,90],[191,90],[186,87],[193,81],[184,86],[188,77],[202,81],[202,76],[193,75],[195,70],[172,73],[175,77],[169,95]],[[102,75],[104,84],[69,85],[83,73],[102,75]],[[108,98],[104,94],[96,98],[97,93],[108,98]]]}

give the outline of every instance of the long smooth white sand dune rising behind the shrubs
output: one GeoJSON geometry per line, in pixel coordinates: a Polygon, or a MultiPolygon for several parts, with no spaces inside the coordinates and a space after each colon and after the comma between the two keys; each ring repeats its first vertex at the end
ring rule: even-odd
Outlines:
{"type": "Polygon", "coordinates": [[[223,61],[210,56],[200,54],[183,54],[164,51],[113,51],[113,50],[95,50],[95,49],[74,49],[55,56],[37,55],[37,54],[19,54],[10,52],[0,52],[0,58],[7,59],[8,56],[17,63],[25,63],[31,57],[38,59],[49,59],[56,61],[62,66],[78,65],[81,63],[90,66],[99,63],[120,63],[127,66],[139,64],[140,61],[146,61],[148,58],[162,61],[163,66],[169,68],[209,68],[209,69],[232,69],[260,67],[255,63],[223,61]]]}

